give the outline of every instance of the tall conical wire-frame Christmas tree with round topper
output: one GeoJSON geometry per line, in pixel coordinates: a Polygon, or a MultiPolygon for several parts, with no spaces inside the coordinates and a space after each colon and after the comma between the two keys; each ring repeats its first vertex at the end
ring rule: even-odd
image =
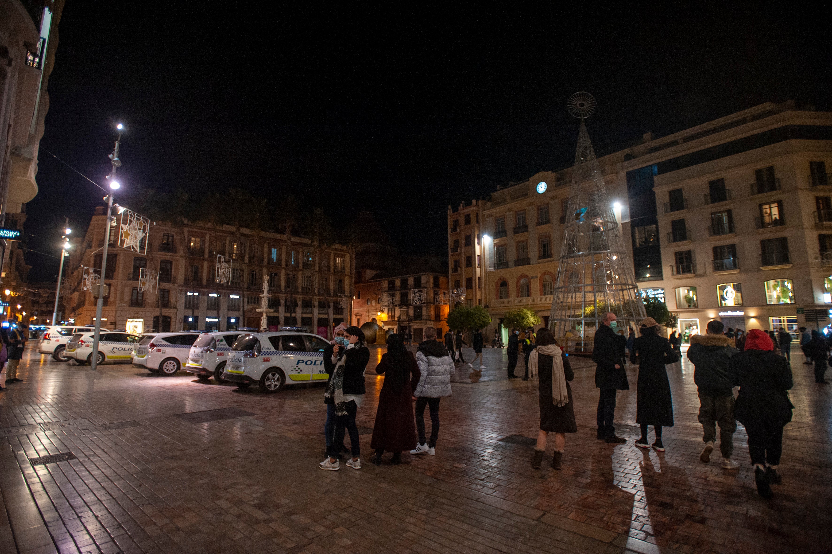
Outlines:
{"type": "Polygon", "coordinates": [[[616,314],[622,327],[637,327],[646,314],[621,225],[584,124],[592,114],[595,99],[586,92],[577,92],[568,106],[570,113],[581,120],[581,128],[549,326],[568,351],[588,352],[605,313],[616,314]]]}

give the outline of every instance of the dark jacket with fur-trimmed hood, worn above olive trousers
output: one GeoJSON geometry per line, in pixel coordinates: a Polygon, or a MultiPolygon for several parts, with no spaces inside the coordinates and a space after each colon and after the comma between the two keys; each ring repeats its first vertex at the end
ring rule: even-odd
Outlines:
{"type": "Polygon", "coordinates": [[[728,362],[738,350],[731,346],[731,339],[722,334],[695,334],[687,359],[694,366],[693,382],[705,396],[733,396],[734,385],[728,378],[728,362]]]}

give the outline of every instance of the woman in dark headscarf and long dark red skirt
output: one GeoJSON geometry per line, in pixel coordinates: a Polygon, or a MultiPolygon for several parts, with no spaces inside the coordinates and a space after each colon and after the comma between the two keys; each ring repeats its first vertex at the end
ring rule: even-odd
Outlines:
{"type": "Polygon", "coordinates": [[[387,352],[375,366],[375,373],[384,375],[384,384],[369,446],[375,450],[375,465],[381,465],[385,450],[393,453],[392,462],[398,465],[402,462],[403,450],[416,448],[413,393],[421,375],[414,354],[404,348],[398,334],[387,338],[387,352]]]}

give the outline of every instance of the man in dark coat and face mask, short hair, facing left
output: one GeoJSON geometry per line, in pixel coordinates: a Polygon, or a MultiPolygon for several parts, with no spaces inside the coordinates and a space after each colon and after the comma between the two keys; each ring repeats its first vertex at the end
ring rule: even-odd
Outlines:
{"type": "Polygon", "coordinates": [[[626,443],[625,438],[616,436],[616,428],[612,426],[612,419],[616,411],[616,393],[618,390],[629,390],[630,383],[626,379],[624,370],[624,346],[626,339],[616,334],[616,314],[607,312],[601,321],[601,326],[595,332],[595,343],[592,346],[592,361],[597,364],[595,369],[595,386],[600,388],[598,397],[598,439],[607,443],[626,443]]]}

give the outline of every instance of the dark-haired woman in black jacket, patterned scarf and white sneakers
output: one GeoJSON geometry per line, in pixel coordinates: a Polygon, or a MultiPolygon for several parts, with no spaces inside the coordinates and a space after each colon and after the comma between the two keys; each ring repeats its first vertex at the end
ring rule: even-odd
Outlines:
{"type": "Polygon", "coordinates": [[[339,449],[344,444],[344,429],[349,431],[349,447],[352,453],[347,465],[353,469],[361,468],[361,445],[359,428],[355,425],[355,414],[366,392],[364,371],[367,370],[369,362],[369,349],[364,344],[364,331],[354,325],[344,331],[344,339],[349,343],[345,348],[340,344],[333,347],[331,362],[335,364],[335,368],[324,393],[324,398],[333,400],[337,418],[334,439],[329,445],[329,458],[320,462],[319,466],[321,469],[332,471],[339,469],[339,449]]]}

